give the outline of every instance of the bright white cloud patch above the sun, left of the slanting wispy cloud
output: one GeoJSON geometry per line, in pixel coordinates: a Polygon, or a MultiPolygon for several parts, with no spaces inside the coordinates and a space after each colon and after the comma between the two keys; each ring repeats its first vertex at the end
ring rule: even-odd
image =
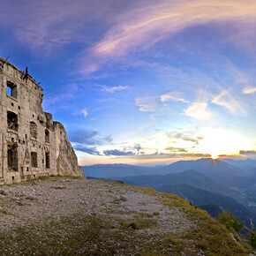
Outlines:
{"type": "Polygon", "coordinates": [[[184,114],[200,121],[207,121],[213,118],[212,113],[207,110],[207,107],[207,102],[193,102],[188,109],[184,110],[184,114]]]}

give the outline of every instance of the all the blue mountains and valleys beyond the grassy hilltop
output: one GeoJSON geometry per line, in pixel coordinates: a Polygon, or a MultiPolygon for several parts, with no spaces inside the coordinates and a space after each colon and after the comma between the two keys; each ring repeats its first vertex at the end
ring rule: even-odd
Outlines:
{"type": "Polygon", "coordinates": [[[166,166],[97,164],[83,167],[87,177],[122,181],[176,193],[213,216],[230,209],[248,224],[256,218],[256,161],[178,161],[166,166]]]}

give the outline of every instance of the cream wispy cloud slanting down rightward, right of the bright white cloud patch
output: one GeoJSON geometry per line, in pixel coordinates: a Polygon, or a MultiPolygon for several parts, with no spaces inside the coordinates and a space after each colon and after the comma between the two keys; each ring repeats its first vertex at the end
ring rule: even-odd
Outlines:
{"type": "Polygon", "coordinates": [[[222,106],[223,108],[227,109],[232,115],[246,115],[246,111],[242,107],[243,103],[235,99],[229,91],[222,91],[221,94],[215,96],[215,98],[212,100],[212,103],[222,106]]]}

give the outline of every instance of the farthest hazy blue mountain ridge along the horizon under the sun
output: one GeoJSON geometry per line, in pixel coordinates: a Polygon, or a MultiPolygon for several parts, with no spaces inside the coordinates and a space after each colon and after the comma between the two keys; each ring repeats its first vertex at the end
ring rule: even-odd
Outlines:
{"type": "MultiPolygon", "coordinates": [[[[229,160],[230,161],[230,160],[229,160]]],[[[240,161],[240,165],[242,161],[240,161]]],[[[245,161],[253,162],[253,161],[245,161]]],[[[251,165],[252,167],[252,165],[251,165]]],[[[255,167],[256,168],[256,165],[255,167]]],[[[83,166],[84,172],[89,177],[113,178],[141,175],[164,175],[194,169],[218,184],[245,187],[255,183],[256,171],[245,171],[222,160],[202,158],[195,161],[178,161],[166,166],[144,167],[129,164],[95,164],[83,166]],[[254,175],[254,176],[253,176],[254,175]],[[248,177],[249,176],[249,177],[248,177]]]]}

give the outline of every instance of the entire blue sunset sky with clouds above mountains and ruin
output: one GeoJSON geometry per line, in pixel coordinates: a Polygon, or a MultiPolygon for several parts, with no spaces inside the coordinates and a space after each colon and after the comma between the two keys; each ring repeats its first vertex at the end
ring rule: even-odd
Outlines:
{"type": "Polygon", "coordinates": [[[80,165],[256,158],[255,0],[0,0],[80,165]]]}

